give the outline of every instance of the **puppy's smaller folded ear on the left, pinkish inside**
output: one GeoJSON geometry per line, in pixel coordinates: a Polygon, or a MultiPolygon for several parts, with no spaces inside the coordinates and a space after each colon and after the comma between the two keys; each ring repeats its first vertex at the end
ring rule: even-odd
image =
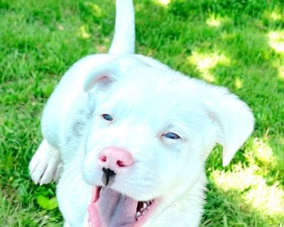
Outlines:
{"type": "Polygon", "coordinates": [[[117,62],[111,62],[91,70],[84,81],[84,92],[89,92],[89,90],[97,86],[106,89],[116,81],[119,74],[121,72],[117,62]]]}

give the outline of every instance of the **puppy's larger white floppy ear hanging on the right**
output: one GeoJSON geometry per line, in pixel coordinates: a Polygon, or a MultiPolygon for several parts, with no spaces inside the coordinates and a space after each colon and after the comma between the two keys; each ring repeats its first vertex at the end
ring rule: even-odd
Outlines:
{"type": "Polygon", "coordinates": [[[237,96],[223,87],[211,88],[205,105],[209,118],[218,127],[216,142],[223,146],[223,166],[226,166],[251,135],[254,118],[249,106],[237,96]]]}

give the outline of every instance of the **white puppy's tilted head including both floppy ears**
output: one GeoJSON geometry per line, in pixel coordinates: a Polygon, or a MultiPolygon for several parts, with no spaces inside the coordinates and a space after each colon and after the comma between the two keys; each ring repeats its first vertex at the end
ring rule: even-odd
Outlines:
{"type": "Polygon", "coordinates": [[[84,180],[104,186],[102,153],[114,148],[131,164],[114,171],[109,187],[138,201],[166,197],[176,185],[189,189],[215,143],[227,165],[253,130],[251,111],[236,96],[169,69],[111,62],[84,88],[93,109],[84,180]]]}

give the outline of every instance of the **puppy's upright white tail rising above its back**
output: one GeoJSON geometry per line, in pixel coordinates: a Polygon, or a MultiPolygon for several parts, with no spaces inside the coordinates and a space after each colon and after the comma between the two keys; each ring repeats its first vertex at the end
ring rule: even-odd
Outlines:
{"type": "Polygon", "coordinates": [[[133,54],[135,52],[135,18],[132,0],[116,0],[114,39],[109,54],[133,54]]]}

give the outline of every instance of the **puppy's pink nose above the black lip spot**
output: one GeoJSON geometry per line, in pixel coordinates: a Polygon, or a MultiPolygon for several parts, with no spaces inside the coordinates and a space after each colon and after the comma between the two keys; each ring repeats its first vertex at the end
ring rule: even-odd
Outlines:
{"type": "Polygon", "coordinates": [[[133,157],[126,150],[108,147],[99,153],[99,163],[106,169],[109,168],[114,172],[119,172],[123,167],[133,163],[133,157]]]}

